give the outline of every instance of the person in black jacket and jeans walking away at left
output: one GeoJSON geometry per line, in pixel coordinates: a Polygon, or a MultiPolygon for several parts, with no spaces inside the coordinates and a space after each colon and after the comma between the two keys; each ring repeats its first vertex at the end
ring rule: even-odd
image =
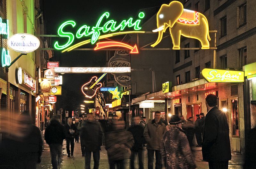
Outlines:
{"type": "Polygon", "coordinates": [[[50,119],[50,125],[45,129],[44,139],[50,146],[52,156],[52,168],[60,168],[62,143],[66,138],[66,130],[59,122],[58,116],[50,119]],[[58,162],[56,156],[58,155],[58,162]]]}

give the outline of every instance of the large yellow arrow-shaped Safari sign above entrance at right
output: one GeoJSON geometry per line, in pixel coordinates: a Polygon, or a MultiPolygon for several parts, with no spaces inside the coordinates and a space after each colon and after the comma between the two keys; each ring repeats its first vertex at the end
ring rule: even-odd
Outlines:
{"type": "Polygon", "coordinates": [[[203,69],[202,74],[208,82],[244,82],[244,72],[241,71],[203,69]]]}

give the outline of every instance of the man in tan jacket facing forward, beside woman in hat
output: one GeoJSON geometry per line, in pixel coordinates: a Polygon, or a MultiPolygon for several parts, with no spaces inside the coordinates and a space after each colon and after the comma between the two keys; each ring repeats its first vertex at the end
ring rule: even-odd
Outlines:
{"type": "Polygon", "coordinates": [[[144,137],[147,142],[148,150],[148,169],[153,169],[154,152],[156,153],[156,169],[161,169],[161,139],[165,131],[165,124],[160,121],[161,112],[155,112],[155,119],[149,120],[145,130],[144,137]]]}

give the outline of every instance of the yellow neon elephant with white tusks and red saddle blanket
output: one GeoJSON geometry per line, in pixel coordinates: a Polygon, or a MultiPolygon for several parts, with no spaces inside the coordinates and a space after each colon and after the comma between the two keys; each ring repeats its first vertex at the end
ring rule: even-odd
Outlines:
{"type": "Polygon", "coordinates": [[[163,4],[156,15],[158,32],[156,42],[151,45],[155,47],[162,38],[163,33],[169,27],[172,38],[172,49],[180,49],[180,35],[187,38],[198,39],[201,42],[201,49],[209,49],[211,41],[209,35],[209,25],[206,17],[199,12],[183,9],[183,4],[179,1],[172,1],[169,5],[163,4]]]}

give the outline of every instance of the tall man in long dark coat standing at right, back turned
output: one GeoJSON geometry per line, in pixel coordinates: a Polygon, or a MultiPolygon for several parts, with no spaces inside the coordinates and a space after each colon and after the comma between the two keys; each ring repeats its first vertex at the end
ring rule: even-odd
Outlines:
{"type": "Polygon", "coordinates": [[[227,117],[217,107],[217,96],[207,95],[205,104],[208,112],[203,129],[203,160],[208,161],[209,169],[228,169],[231,150],[227,117]]]}

